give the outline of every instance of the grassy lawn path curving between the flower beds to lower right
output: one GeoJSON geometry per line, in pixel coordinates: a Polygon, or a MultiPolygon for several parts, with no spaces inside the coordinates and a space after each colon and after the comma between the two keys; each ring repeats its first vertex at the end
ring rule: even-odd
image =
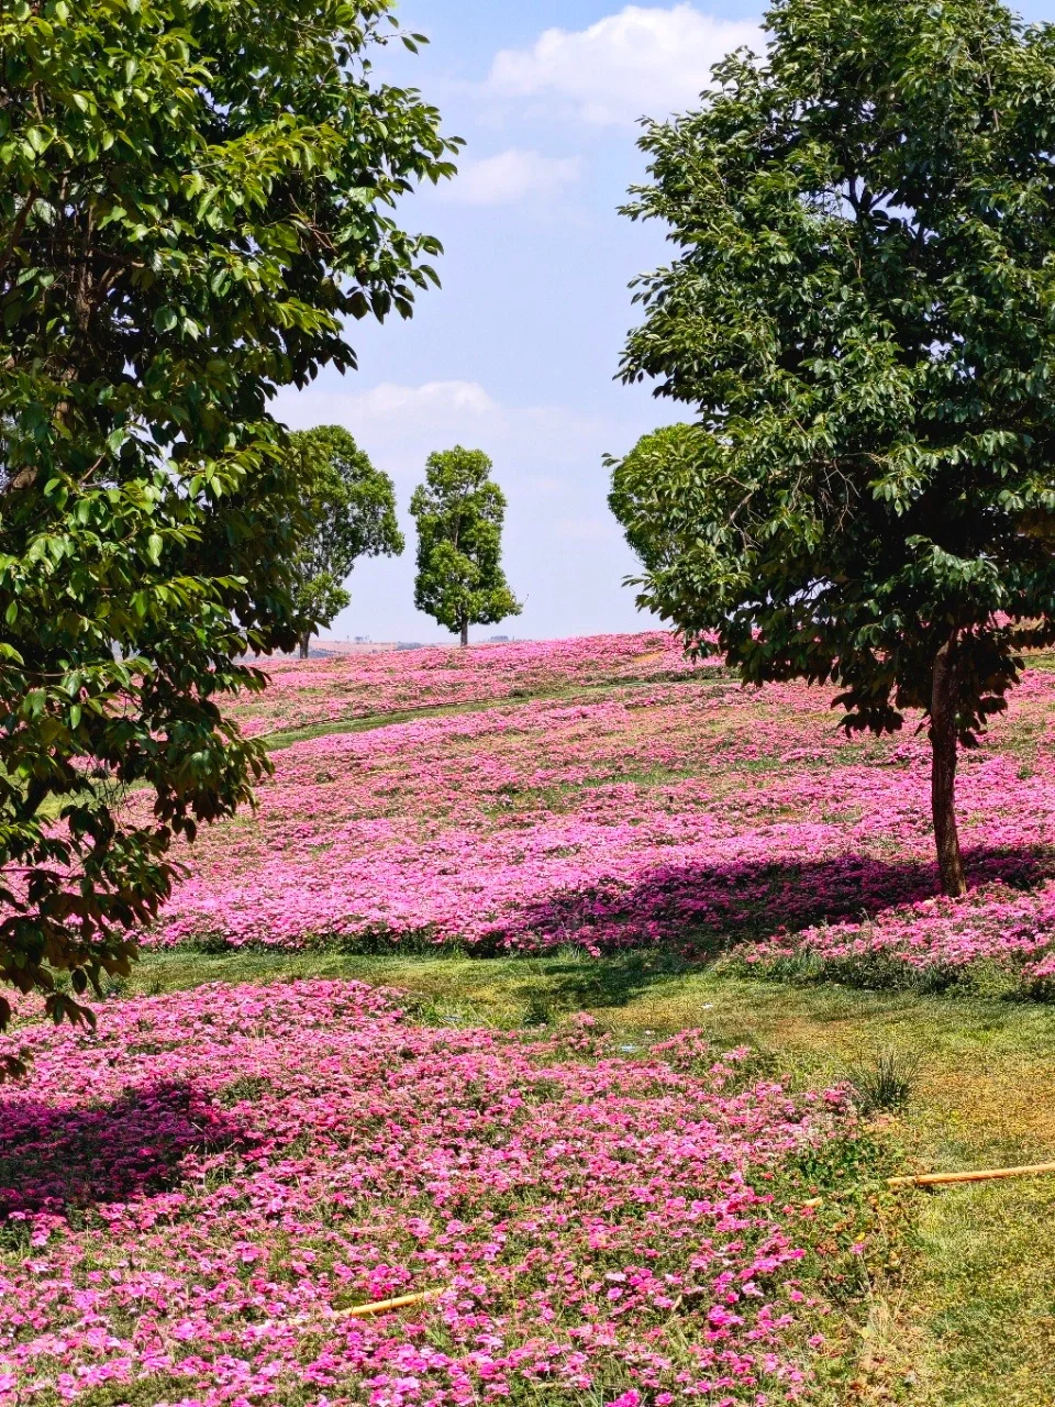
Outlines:
{"type": "MultiPolygon", "coordinates": [[[[906,1169],[1055,1154],[1055,1007],[1042,1005],[750,982],[640,954],[595,961],[184,950],[148,955],[129,989],[312,975],[401,988],[426,1024],[542,1024],[585,1009],[627,1044],[701,1027],[720,1045],[764,1050],[802,1083],[844,1078],[893,1050],[919,1061],[912,1102],[889,1120],[906,1169]]],[[[876,1280],[851,1400],[1055,1404],[1055,1179],[904,1196],[910,1233],[876,1280]]]]}

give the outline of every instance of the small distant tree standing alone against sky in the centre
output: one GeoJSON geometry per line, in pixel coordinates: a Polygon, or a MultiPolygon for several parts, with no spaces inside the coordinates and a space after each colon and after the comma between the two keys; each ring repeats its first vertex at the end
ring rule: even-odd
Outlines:
{"type": "Polygon", "coordinates": [[[478,449],[429,454],[425,483],[414,491],[418,577],[414,604],[468,644],[470,625],[519,615],[502,571],[505,494],[478,449]]]}

